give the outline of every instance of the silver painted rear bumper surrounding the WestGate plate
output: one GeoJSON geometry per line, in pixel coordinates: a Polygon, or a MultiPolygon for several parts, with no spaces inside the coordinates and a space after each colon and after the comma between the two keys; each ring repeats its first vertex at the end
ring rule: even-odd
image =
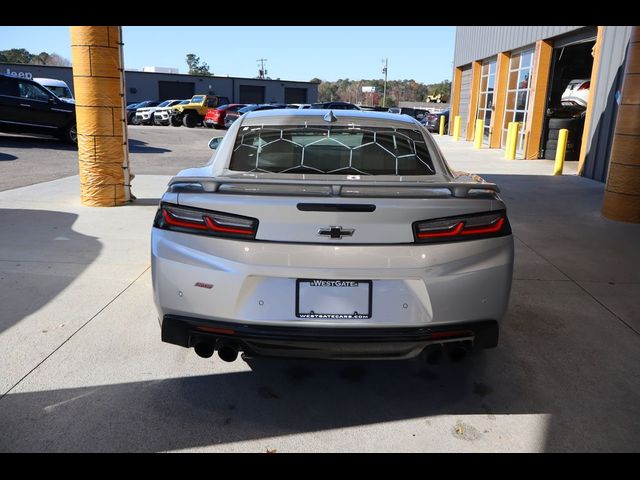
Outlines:
{"type": "Polygon", "coordinates": [[[151,267],[161,319],[172,315],[314,328],[455,325],[503,317],[511,289],[513,237],[336,246],[241,241],[153,228],[151,267]],[[370,315],[299,316],[297,279],[370,282],[370,315]]]}

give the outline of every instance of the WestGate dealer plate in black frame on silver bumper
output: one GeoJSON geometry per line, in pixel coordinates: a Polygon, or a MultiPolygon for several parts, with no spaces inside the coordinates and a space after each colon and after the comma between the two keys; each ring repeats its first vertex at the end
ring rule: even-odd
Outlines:
{"type": "Polygon", "coordinates": [[[371,318],[371,280],[296,280],[296,317],[371,318]]]}

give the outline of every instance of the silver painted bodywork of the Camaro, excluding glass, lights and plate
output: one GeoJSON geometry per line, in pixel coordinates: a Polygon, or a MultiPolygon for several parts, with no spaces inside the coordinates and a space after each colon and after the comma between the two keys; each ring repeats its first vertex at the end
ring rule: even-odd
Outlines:
{"type": "MultiPolygon", "coordinates": [[[[166,315],[271,326],[416,327],[499,321],[513,272],[513,237],[415,243],[414,222],[505,210],[498,187],[452,172],[427,130],[408,116],[335,111],[338,125],[421,132],[435,174],[359,176],[229,170],[236,136],[264,125],[326,125],[326,110],[250,112],[204,167],[183,170],[163,202],[256,218],[255,240],[154,228],[154,300],[166,315]],[[374,206],[305,211],[299,204],[374,206]],[[352,231],[328,238],[319,230],[352,231]],[[370,280],[370,318],[300,318],[297,279],[370,280]],[[207,285],[207,288],[202,288],[207,285]]],[[[334,124],[335,125],[335,124],[334,124]]]]}

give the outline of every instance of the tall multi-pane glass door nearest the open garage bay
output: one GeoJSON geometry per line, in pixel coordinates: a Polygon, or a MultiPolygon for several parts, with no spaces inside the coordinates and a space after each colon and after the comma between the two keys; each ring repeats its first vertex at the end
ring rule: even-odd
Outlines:
{"type": "Polygon", "coordinates": [[[524,151],[524,131],[529,109],[529,93],[531,91],[531,73],[533,70],[534,49],[530,48],[513,53],[509,60],[509,80],[505,102],[504,123],[502,125],[502,146],[507,145],[509,122],[519,122],[518,143],[516,153],[524,151]]]}

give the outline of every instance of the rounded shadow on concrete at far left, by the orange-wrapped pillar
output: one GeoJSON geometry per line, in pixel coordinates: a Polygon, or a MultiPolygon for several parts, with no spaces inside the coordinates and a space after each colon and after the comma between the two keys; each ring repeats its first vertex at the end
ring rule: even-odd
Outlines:
{"type": "Polygon", "coordinates": [[[72,229],[77,218],[0,209],[0,333],[49,303],[96,259],[102,245],[72,229]]]}

